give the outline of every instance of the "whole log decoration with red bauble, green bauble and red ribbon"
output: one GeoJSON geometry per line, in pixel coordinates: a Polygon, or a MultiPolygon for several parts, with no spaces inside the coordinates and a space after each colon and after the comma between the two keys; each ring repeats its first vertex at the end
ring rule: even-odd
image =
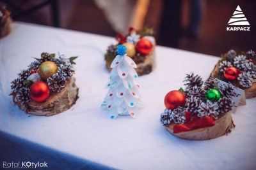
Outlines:
{"type": "Polygon", "coordinates": [[[192,140],[218,138],[234,127],[230,111],[234,106],[236,90],[230,83],[221,84],[209,78],[186,74],[186,89],[172,90],[166,94],[166,110],[160,122],[173,135],[192,140]]]}

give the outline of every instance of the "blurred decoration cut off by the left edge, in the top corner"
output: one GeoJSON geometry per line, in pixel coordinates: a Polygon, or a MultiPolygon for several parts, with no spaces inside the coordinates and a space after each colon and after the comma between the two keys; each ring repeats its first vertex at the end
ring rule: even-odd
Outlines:
{"type": "Polygon", "coordinates": [[[0,38],[11,32],[12,19],[6,5],[0,2],[0,38]]]}

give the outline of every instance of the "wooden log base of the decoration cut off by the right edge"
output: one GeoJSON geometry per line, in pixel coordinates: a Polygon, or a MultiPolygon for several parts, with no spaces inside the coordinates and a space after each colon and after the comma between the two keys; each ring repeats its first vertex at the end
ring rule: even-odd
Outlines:
{"type": "MultiPolygon", "coordinates": [[[[212,70],[212,73],[210,74],[210,77],[218,78],[218,77],[216,77],[216,75],[219,74],[219,66],[220,66],[220,61],[215,65],[214,69],[212,70]]],[[[256,97],[256,82],[253,82],[252,86],[248,87],[248,88],[241,87],[241,85],[239,85],[239,84],[234,85],[234,86],[244,90],[246,99],[256,97]]]]}

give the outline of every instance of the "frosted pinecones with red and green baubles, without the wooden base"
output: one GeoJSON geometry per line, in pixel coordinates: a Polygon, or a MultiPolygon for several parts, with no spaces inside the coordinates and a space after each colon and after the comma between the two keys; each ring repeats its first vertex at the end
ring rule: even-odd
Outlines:
{"type": "Polygon", "coordinates": [[[232,110],[232,98],[236,90],[231,83],[221,85],[218,79],[202,78],[194,73],[186,74],[185,90],[172,90],[164,97],[166,110],[161,114],[162,125],[186,124],[198,118],[218,116],[232,110]]]}

